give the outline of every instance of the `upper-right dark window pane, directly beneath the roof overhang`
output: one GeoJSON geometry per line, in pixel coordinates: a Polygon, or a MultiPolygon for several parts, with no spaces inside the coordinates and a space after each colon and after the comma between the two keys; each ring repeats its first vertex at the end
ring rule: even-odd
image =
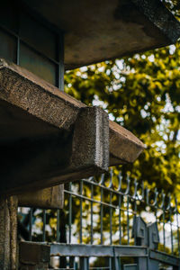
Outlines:
{"type": "Polygon", "coordinates": [[[20,36],[49,58],[56,59],[56,35],[29,15],[21,15],[20,36]]]}

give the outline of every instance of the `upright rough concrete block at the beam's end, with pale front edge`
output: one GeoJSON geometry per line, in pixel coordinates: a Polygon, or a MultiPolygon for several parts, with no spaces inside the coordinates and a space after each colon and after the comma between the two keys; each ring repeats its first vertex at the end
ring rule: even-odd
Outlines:
{"type": "Polygon", "coordinates": [[[109,120],[107,112],[98,107],[81,110],[75,123],[71,166],[109,166],[109,120]],[[92,149],[92,146],[93,149],[92,149]]]}

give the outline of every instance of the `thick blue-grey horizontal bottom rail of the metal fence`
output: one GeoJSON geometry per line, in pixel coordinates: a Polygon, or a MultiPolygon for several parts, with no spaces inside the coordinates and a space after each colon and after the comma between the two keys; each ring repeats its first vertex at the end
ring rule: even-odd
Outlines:
{"type": "MultiPolygon", "coordinates": [[[[26,242],[29,243],[29,242],[26,242]]],[[[30,242],[31,243],[31,242],[30,242]]],[[[46,243],[38,243],[44,245],[46,243]]],[[[179,257],[139,246],[103,246],[48,243],[50,257],[149,257],[169,266],[179,266],[179,257]]]]}

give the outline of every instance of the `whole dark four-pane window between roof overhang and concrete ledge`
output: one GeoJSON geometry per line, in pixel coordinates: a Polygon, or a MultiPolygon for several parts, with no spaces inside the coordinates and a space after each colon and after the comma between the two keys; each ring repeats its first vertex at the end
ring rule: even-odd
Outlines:
{"type": "Polygon", "coordinates": [[[59,71],[63,70],[63,55],[59,51],[62,38],[62,33],[37,20],[33,12],[22,5],[14,6],[11,0],[1,5],[0,57],[25,67],[58,87],[59,71]]]}

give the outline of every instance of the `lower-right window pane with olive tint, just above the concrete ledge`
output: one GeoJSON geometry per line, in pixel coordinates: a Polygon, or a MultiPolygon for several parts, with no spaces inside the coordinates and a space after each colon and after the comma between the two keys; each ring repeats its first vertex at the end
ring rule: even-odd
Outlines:
{"type": "Polygon", "coordinates": [[[20,46],[20,66],[27,68],[50,84],[56,84],[56,65],[23,44],[20,46]]]}

